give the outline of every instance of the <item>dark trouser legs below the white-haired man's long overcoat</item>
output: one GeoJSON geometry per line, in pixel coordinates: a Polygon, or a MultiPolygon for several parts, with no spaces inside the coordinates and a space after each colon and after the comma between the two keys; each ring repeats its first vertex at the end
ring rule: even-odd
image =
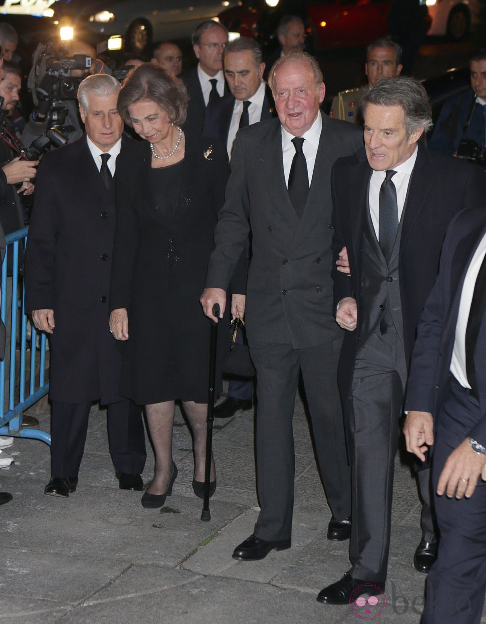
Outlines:
{"type": "MultiPolygon", "coordinates": [[[[92,401],[52,401],[50,417],[50,474],[77,477],[88,431],[92,401]]],[[[120,472],[141,474],[145,466],[145,430],[141,407],[126,399],[107,406],[108,446],[120,472]]]]}

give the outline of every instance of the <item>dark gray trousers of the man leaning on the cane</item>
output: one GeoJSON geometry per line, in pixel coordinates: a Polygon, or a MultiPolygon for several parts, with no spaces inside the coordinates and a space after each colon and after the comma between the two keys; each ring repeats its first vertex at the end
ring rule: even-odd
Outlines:
{"type": "Polygon", "coordinates": [[[291,344],[250,344],[257,369],[257,482],[261,511],[255,535],[260,539],[288,539],[292,533],[292,417],[299,371],[328,503],[336,518],[342,520],[350,515],[350,469],[336,383],[340,347],[340,339],[298,350],[292,349],[291,344]]]}

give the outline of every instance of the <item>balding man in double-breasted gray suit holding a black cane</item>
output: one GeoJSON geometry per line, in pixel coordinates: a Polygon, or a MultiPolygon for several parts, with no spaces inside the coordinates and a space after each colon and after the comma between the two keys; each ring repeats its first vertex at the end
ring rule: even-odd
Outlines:
{"type": "Polygon", "coordinates": [[[333,512],[331,539],[349,534],[349,472],[336,396],[340,333],[331,315],[330,171],[361,145],[351,124],[319,109],[322,72],[290,52],[270,76],[279,119],[239,131],[226,202],[216,228],[204,311],[224,309],[226,288],[252,231],[246,327],[257,370],[257,469],[261,512],[233,557],[264,558],[290,547],[293,506],[292,416],[299,370],[312,415],[320,469],[333,512]]]}

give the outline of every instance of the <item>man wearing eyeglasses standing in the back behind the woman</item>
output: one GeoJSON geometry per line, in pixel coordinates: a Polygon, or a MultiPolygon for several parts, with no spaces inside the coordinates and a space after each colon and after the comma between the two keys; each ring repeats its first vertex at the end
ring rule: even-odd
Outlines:
{"type": "Polygon", "coordinates": [[[189,92],[188,117],[184,124],[189,134],[202,133],[207,104],[228,94],[222,71],[222,52],[227,42],[228,31],[212,19],[199,24],[193,32],[193,49],[199,63],[181,76],[189,92]]]}

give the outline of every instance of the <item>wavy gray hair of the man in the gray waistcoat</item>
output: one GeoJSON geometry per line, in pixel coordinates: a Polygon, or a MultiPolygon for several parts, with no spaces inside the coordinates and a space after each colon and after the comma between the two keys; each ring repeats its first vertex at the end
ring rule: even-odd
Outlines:
{"type": "Polygon", "coordinates": [[[432,107],[427,91],[414,78],[397,76],[378,80],[373,89],[369,89],[361,98],[362,117],[368,104],[399,106],[403,109],[407,138],[421,127],[425,132],[432,127],[432,107]]]}

